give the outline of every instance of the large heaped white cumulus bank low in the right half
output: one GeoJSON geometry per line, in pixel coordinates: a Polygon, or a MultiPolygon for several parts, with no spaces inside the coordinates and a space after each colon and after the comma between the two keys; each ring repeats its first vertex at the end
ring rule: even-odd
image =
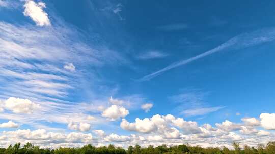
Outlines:
{"type": "Polygon", "coordinates": [[[215,138],[215,142],[230,144],[232,141],[251,142],[252,140],[249,140],[251,137],[257,137],[257,139],[274,137],[274,134],[268,131],[256,129],[259,124],[257,119],[246,118],[243,119],[243,122],[243,124],[236,124],[226,120],[216,123],[216,128],[213,128],[210,124],[198,126],[197,122],[185,121],[171,114],[165,116],[156,114],[143,120],[136,118],[132,123],[123,119],[120,126],[128,131],[144,133],[146,141],[166,143],[169,142],[169,139],[175,140],[175,142],[196,143],[198,141],[202,143],[205,140],[210,142],[211,138],[215,138]]]}

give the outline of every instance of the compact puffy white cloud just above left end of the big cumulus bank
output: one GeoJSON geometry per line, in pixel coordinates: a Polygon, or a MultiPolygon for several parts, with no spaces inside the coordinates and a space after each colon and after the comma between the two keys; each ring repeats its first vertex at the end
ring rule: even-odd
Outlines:
{"type": "Polygon", "coordinates": [[[102,117],[108,118],[111,121],[116,121],[120,118],[124,118],[129,114],[129,111],[117,105],[112,105],[102,112],[102,117]]]}

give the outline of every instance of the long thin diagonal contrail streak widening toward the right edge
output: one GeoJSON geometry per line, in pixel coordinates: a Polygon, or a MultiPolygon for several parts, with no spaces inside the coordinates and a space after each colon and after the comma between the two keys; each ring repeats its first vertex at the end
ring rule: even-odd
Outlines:
{"type": "Polygon", "coordinates": [[[263,30],[257,30],[251,33],[244,33],[238,36],[235,36],[233,38],[231,38],[230,40],[228,40],[227,42],[211,49],[208,50],[202,54],[199,54],[197,56],[188,58],[188,59],[184,59],[184,60],[180,60],[177,62],[174,62],[172,64],[170,64],[167,67],[164,67],[156,72],[153,72],[149,75],[144,76],[143,78],[138,79],[137,81],[147,81],[150,80],[152,78],[155,78],[156,76],[160,75],[161,73],[168,71],[170,69],[173,69],[175,67],[179,67],[181,65],[185,65],[188,64],[192,61],[195,61],[197,59],[206,57],[210,54],[213,54],[215,52],[224,50],[224,49],[241,49],[241,48],[246,48],[246,47],[250,47],[250,46],[254,46],[254,45],[258,45],[258,44],[262,44],[265,42],[269,42],[269,41],[273,41],[275,39],[275,28],[269,28],[269,29],[263,29],[263,30]]]}

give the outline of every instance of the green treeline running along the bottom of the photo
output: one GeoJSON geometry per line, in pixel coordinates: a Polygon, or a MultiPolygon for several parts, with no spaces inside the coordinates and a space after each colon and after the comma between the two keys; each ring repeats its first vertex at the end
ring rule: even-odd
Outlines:
{"type": "Polygon", "coordinates": [[[34,146],[31,143],[23,147],[20,143],[10,145],[7,149],[1,148],[0,154],[275,154],[275,142],[269,142],[267,145],[258,144],[256,147],[240,146],[240,143],[233,142],[234,149],[223,148],[202,148],[200,146],[175,145],[168,147],[161,145],[157,147],[148,146],[142,148],[139,145],[129,146],[128,149],[115,147],[114,145],[95,147],[91,144],[79,148],[49,149],[34,146]]]}

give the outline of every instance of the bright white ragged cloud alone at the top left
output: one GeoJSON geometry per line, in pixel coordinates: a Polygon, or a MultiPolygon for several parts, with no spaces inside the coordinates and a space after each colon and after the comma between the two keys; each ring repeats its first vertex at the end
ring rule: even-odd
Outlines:
{"type": "Polygon", "coordinates": [[[48,14],[43,10],[46,8],[43,2],[34,2],[32,0],[26,0],[24,4],[24,15],[29,16],[36,23],[37,26],[49,26],[50,20],[48,14]]]}

